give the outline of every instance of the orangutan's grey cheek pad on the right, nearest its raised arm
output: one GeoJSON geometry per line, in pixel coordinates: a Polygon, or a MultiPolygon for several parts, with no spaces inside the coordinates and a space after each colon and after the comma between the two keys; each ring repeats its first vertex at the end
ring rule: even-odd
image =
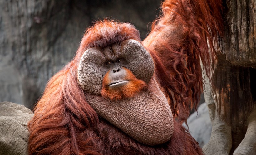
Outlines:
{"type": "Polygon", "coordinates": [[[131,70],[136,78],[148,84],[155,69],[154,61],[149,52],[139,41],[130,39],[122,42],[121,53],[128,62],[126,68],[131,70]]]}

